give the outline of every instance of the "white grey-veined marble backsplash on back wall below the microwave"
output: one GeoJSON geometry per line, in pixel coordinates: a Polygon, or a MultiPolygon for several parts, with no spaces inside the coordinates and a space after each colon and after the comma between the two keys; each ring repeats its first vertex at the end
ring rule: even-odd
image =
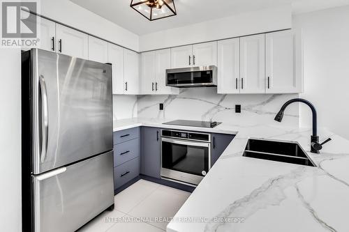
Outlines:
{"type": "MultiPolygon", "coordinates": [[[[216,88],[182,88],[179,95],[138,96],[137,116],[141,118],[171,118],[198,121],[220,121],[238,125],[277,124],[274,116],[287,100],[298,94],[217,94],[216,88]],[[164,109],[159,110],[159,103],[164,109]],[[241,105],[241,114],[235,113],[241,105]]],[[[134,110],[134,109],[133,109],[134,110]]],[[[135,113],[133,111],[133,116],[135,113]]],[[[284,125],[299,125],[299,105],[285,111],[284,125]]]]}

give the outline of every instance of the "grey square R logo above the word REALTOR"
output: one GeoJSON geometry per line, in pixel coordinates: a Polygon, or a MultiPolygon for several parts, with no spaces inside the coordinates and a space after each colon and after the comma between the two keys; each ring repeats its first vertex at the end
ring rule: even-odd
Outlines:
{"type": "Polygon", "coordinates": [[[2,38],[36,38],[36,15],[28,12],[36,12],[35,1],[5,1],[1,8],[2,38]]]}

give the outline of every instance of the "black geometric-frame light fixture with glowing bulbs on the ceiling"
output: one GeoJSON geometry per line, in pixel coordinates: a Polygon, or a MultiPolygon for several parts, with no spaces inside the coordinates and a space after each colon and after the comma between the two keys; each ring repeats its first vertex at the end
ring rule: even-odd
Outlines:
{"type": "Polygon", "coordinates": [[[177,15],[174,0],[132,0],[130,6],[150,21],[177,15]]]}

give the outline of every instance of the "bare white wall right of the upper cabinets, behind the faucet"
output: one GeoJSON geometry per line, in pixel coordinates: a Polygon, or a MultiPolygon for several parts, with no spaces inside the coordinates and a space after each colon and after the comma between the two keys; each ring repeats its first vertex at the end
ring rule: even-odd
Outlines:
{"type": "MultiPolygon", "coordinates": [[[[318,125],[349,139],[349,6],[296,15],[304,39],[304,94],[318,110],[318,125]]],[[[300,109],[302,126],[311,111],[300,109]]]]}

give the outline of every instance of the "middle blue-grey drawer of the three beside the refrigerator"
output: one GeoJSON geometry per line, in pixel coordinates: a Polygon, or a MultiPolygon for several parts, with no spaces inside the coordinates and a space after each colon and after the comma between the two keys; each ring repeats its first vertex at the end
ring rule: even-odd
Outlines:
{"type": "Polygon", "coordinates": [[[140,139],[114,145],[114,167],[140,156],[140,139]]]}

